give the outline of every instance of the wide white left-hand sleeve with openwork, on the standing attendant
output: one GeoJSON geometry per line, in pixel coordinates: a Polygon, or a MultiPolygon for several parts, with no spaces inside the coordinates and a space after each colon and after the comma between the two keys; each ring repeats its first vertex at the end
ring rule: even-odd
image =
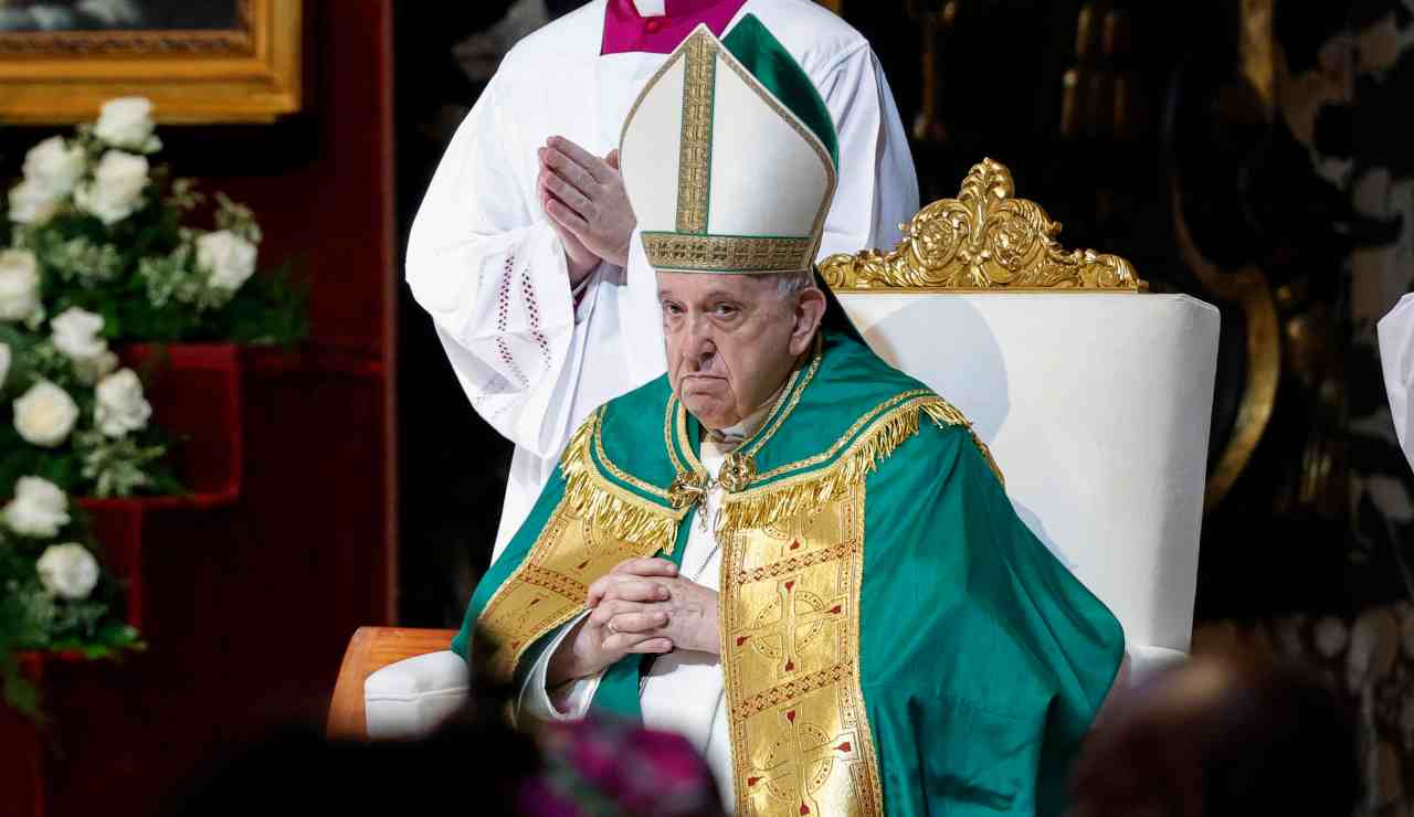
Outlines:
{"type": "Polygon", "coordinates": [[[564,246],[533,199],[536,144],[520,144],[513,119],[492,78],[417,211],[407,283],[477,413],[550,458],[568,425],[560,392],[573,387],[567,362],[584,315],[564,246]]]}

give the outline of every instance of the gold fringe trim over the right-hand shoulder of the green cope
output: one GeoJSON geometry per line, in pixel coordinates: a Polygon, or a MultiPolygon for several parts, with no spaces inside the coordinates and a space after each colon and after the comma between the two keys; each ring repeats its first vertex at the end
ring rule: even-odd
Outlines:
{"type": "Polygon", "coordinates": [[[899,445],[918,434],[921,414],[928,414],[940,428],[947,425],[966,428],[993,474],[1005,485],[987,445],[973,433],[971,421],[942,397],[919,397],[875,420],[833,465],[748,489],[738,495],[741,499],[737,500],[728,498],[717,517],[717,536],[727,537],[740,530],[795,519],[844,496],[853,486],[861,485],[899,445]]]}

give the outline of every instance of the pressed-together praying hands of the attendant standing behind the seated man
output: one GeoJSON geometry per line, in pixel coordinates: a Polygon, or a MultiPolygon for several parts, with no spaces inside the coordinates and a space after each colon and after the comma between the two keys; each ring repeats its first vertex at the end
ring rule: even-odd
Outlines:
{"type": "MultiPolygon", "coordinates": [[[[537,189],[561,237],[567,232],[597,257],[626,266],[638,219],[624,189],[618,151],[600,158],[568,139],[551,136],[537,155],[537,189]]],[[[570,254],[568,246],[566,254],[570,254]]]]}

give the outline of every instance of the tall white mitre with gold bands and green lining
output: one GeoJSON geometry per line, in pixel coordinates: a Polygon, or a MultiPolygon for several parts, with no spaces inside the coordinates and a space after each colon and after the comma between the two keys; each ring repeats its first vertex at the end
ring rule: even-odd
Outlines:
{"type": "Polygon", "coordinates": [[[837,155],[810,78],[751,14],[723,40],[693,30],[619,141],[648,263],[682,273],[812,269],[837,155]]]}

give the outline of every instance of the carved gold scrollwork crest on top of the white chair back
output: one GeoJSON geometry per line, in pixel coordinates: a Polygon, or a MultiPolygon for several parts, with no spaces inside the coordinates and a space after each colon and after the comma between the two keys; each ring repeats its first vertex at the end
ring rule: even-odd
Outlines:
{"type": "Polygon", "coordinates": [[[834,254],[820,274],[834,290],[1148,290],[1118,256],[1060,247],[1060,225],[1014,194],[1011,171],[984,158],[957,198],[936,201],[904,225],[892,250],[834,254]]]}

